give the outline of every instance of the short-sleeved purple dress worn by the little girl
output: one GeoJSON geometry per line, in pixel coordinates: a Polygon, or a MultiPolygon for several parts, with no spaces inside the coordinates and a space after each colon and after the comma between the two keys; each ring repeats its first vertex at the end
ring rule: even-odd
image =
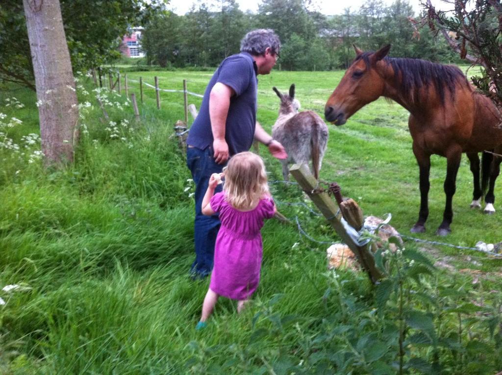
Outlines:
{"type": "Polygon", "coordinates": [[[245,300],[258,288],[263,254],[260,229],[264,219],[274,216],[274,201],[261,199],[255,209],[239,211],[221,192],[213,195],[210,203],[212,210],[219,212],[221,226],[209,289],[224,297],[245,300]]]}

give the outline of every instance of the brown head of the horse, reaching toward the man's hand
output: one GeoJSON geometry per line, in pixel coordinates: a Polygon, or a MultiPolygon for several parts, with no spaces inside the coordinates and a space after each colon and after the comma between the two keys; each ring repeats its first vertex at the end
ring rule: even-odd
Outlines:
{"type": "Polygon", "coordinates": [[[354,46],[356,58],[348,67],[324,107],[326,120],[343,125],[347,118],[367,103],[378,99],[384,90],[384,77],[376,65],[389,53],[391,45],[376,52],[362,52],[354,46]]]}

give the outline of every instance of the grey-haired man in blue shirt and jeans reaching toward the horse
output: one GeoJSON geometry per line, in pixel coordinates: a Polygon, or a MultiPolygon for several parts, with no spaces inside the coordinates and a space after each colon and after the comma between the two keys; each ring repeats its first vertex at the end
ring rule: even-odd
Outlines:
{"type": "MultiPolygon", "coordinates": [[[[207,276],[213,267],[218,215],[202,214],[202,198],[209,177],[221,173],[228,158],[248,151],[253,141],[265,144],[278,158],[284,147],[256,120],[259,74],[269,74],[279,58],[281,42],[270,29],[250,31],[240,42],[240,53],[227,57],[207,85],[201,108],[187,138],[187,166],[195,182],[194,277],[207,276]]],[[[221,191],[218,185],[216,192],[221,191]]]]}

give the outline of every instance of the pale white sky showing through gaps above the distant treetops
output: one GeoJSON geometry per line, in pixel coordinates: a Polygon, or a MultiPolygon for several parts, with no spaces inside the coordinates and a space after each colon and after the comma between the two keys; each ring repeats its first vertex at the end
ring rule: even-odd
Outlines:
{"type": "MultiPolygon", "coordinates": [[[[253,0],[236,1],[239,4],[239,9],[244,12],[246,10],[257,12],[258,4],[261,3],[253,0]]],[[[313,0],[313,3],[318,5],[318,9],[320,9],[320,12],[324,15],[342,14],[343,10],[347,7],[350,7],[351,12],[357,12],[365,2],[366,0],[313,0]]],[[[190,10],[192,4],[197,4],[197,0],[170,0],[169,3],[169,9],[173,10],[178,15],[183,15],[190,10]]],[[[211,0],[208,0],[206,3],[210,4],[211,0]]],[[[384,0],[384,3],[390,5],[393,3],[393,0],[384,0]]],[[[409,3],[413,7],[415,13],[418,14],[420,11],[420,0],[409,0],[409,3]]],[[[431,3],[438,9],[444,10],[445,8],[441,0],[431,0],[431,3]]]]}

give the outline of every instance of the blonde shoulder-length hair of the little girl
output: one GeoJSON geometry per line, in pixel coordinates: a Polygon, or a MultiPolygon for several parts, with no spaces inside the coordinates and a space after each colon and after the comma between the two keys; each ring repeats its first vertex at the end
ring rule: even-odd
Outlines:
{"type": "Polygon", "coordinates": [[[234,208],[253,208],[260,198],[270,195],[265,164],[258,155],[252,152],[235,154],[223,171],[225,198],[234,208]]]}

